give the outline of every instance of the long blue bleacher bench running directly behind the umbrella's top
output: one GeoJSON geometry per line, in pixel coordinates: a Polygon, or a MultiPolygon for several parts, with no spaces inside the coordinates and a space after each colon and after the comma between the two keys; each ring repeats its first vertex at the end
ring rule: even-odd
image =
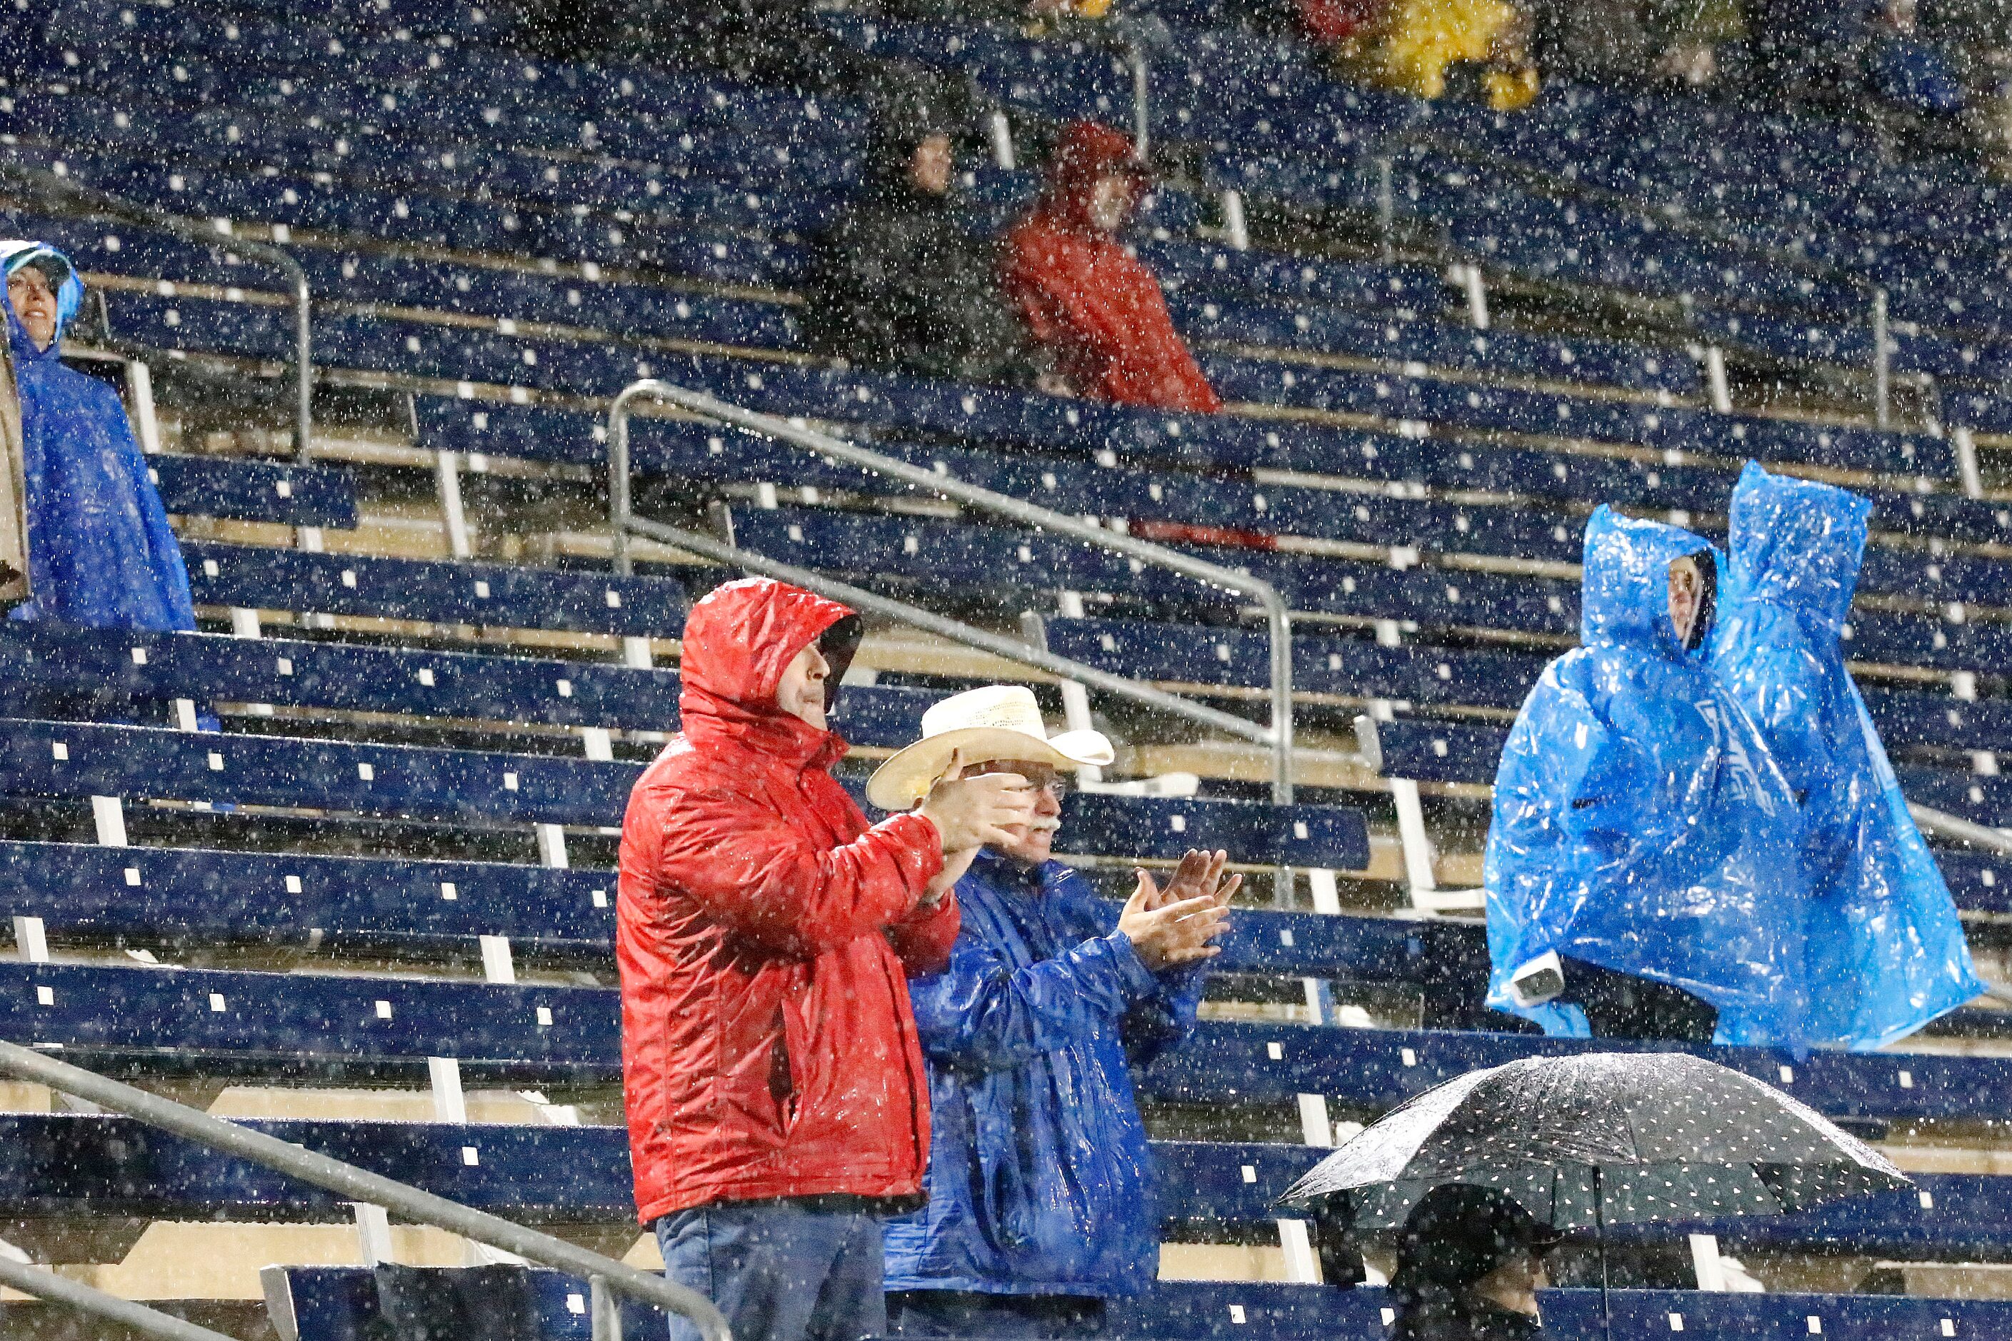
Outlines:
{"type": "MultiPolygon", "coordinates": [[[[459,1058],[525,1084],[620,1074],[616,993],[406,977],[225,969],[0,965],[0,1037],[60,1045],[80,1064],[402,1076],[459,1058]]],[[[1612,1039],[1451,1029],[1346,1029],[1205,1021],[1193,1045],[1141,1074],[1151,1098],[1292,1104],[1326,1094],[1376,1114],[1529,1056],[1678,1051],[1612,1039]]],[[[2012,1062],[1940,1053],[1813,1053],[1690,1047],[1779,1086],[1833,1118],[1899,1122],[2012,1116],[2012,1062]]]]}

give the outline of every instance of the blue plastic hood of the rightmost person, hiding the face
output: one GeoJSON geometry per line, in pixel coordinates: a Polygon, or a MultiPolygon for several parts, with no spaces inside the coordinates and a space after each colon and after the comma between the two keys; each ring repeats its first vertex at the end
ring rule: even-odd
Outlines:
{"type": "Polygon", "coordinates": [[[1871,511],[1871,501],[1849,489],[1769,474],[1748,460],[1726,529],[1732,593],[1841,627],[1859,585],[1871,511]]]}

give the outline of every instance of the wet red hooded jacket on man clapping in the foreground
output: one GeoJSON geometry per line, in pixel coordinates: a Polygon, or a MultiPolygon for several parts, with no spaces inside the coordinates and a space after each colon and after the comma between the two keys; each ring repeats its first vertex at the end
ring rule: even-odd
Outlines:
{"type": "Polygon", "coordinates": [[[950,963],[958,905],[919,814],[867,828],[845,742],[775,704],[851,611],[769,579],[684,625],[684,732],[622,820],[622,1078],[642,1222],[775,1196],[915,1196],[930,1084],[907,975],[950,963]]]}

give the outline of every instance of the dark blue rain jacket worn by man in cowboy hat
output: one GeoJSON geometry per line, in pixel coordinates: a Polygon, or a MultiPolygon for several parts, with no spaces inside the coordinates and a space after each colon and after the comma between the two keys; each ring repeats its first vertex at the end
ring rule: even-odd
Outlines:
{"type": "Polygon", "coordinates": [[[887,1289],[1137,1295],[1159,1208],[1129,1064],[1189,1035],[1203,973],[1151,973],[1062,863],[980,852],[958,905],[950,967],[909,983],[930,1202],[887,1222],[887,1289]]]}

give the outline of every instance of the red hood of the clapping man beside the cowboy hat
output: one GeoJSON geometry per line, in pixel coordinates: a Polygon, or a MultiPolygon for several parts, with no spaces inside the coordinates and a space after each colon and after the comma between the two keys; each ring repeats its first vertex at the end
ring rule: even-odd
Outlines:
{"type": "MultiPolygon", "coordinates": [[[[694,726],[704,734],[706,722],[720,722],[781,730],[783,736],[771,742],[777,748],[787,738],[801,738],[809,748],[823,744],[829,732],[777,708],[775,690],[791,659],[851,613],[847,605],[771,577],[742,577],[708,591],[684,621],[678,714],[686,734],[694,726]]],[[[837,674],[833,667],[833,680],[837,674]]]]}

